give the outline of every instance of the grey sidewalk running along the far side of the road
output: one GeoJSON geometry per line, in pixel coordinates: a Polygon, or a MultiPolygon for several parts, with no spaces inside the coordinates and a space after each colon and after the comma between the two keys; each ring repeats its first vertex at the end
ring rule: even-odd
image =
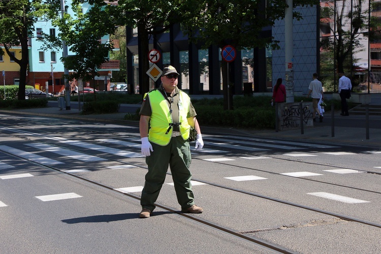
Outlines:
{"type": "MultiPolygon", "coordinates": [[[[126,112],[114,114],[98,114],[98,115],[81,115],[76,105],[72,104],[71,110],[60,110],[58,107],[20,109],[20,110],[0,110],[0,112],[13,112],[16,114],[29,114],[46,117],[60,117],[69,119],[88,120],[105,123],[116,123],[138,126],[137,121],[123,120],[126,112]]],[[[130,108],[127,111],[136,111],[139,105],[123,105],[124,108],[130,108]],[[131,109],[132,108],[132,109],[131,109]]],[[[126,111],[126,110],[124,110],[126,111]]],[[[334,115],[334,128],[331,124],[332,117],[330,113],[324,115],[322,123],[314,122],[313,127],[304,128],[304,134],[301,129],[282,130],[275,132],[274,130],[252,130],[252,129],[235,129],[235,128],[216,128],[202,126],[204,134],[220,134],[220,135],[243,135],[258,138],[268,138],[275,140],[293,140],[297,142],[314,142],[320,144],[346,144],[346,145],[362,145],[371,146],[373,149],[381,148],[381,116],[369,116],[369,139],[366,139],[366,117],[365,115],[340,116],[339,112],[334,115]]]]}

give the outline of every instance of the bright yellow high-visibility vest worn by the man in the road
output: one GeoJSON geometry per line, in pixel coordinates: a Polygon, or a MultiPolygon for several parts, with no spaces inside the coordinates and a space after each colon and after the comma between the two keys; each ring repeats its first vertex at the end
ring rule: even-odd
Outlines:
{"type": "MultiPolygon", "coordinates": [[[[145,96],[146,95],[147,94],[145,94],[145,96]]],[[[148,139],[158,145],[167,145],[171,140],[173,132],[172,127],[168,134],[166,134],[169,128],[169,123],[173,122],[167,100],[163,96],[163,93],[157,89],[150,91],[148,96],[152,110],[148,139]],[[155,107],[152,107],[152,105],[155,105],[155,107]]],[[[182,109],[179,109],[179,121],[181,122],[181,125],[179,125],[179,130],[181,137],[184,140],[187,140],[189,138],[190,125],[186,116],[189,111],[190,99],[188,95],[181,90],[179,90],[179,97],[180,102],[182,103],[182,109]]],[[[177,107],[177,105],[174,106],[177,107]]]]}

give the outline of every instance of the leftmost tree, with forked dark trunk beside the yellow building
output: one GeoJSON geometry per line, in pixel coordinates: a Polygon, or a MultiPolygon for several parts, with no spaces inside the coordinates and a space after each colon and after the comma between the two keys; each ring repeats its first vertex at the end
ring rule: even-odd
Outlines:
{"type": "MultiPolygon", "coordinates": [[[[0,44],[5,52],[20,66],[18,100],[25,100],[26,72],[29,64],[28,38],[33,37],[37,20],[48,20],[49,13],[59,8],[58,1],[18,0],[0,1],[0,44]],[[21,58],[10,53],[12,47],[21,46],[21,58]]],[[[3,51],[0,53],[4,54],[3,51]]]]}

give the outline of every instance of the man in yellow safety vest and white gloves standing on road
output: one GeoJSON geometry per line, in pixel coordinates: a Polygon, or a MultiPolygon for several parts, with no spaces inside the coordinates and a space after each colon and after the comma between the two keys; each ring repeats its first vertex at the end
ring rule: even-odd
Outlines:
{"type": "Polygon", "coordinates": [[[189,171],[191,155],[189,130],[197,131],[196,150],[204,146],[196,111],[189,96],[177,88],[179,74],[172,66],[164,68],[159,88],[144,94],[140,109],[140,137],[142,154],[146,156],[148,173],[142,190],[141,218],[148,218],[171,169],[177,201],[182,212],[202,213],[195,205],[189,171]]]}

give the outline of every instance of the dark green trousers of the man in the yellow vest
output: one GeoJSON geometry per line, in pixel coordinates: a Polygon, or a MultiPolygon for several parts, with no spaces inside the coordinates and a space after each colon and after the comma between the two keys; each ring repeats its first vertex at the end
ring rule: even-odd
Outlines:
{"type": "Polygon", "coordinates": [[[154,203],[164,184],[168,165],[171,169],[172,179],[175,186],[177,201],[181,208],[193,206],[194,195],[190,179],[192,174],[189,171],[192,157],[190,155],[189,142],[181,136],[171,138],[166,146],[151,143],[153,151],[146,157],[148,173],[145,175],[144,188],[140,204],[143,208],[151,211],[155,209],[154,203]]]}

